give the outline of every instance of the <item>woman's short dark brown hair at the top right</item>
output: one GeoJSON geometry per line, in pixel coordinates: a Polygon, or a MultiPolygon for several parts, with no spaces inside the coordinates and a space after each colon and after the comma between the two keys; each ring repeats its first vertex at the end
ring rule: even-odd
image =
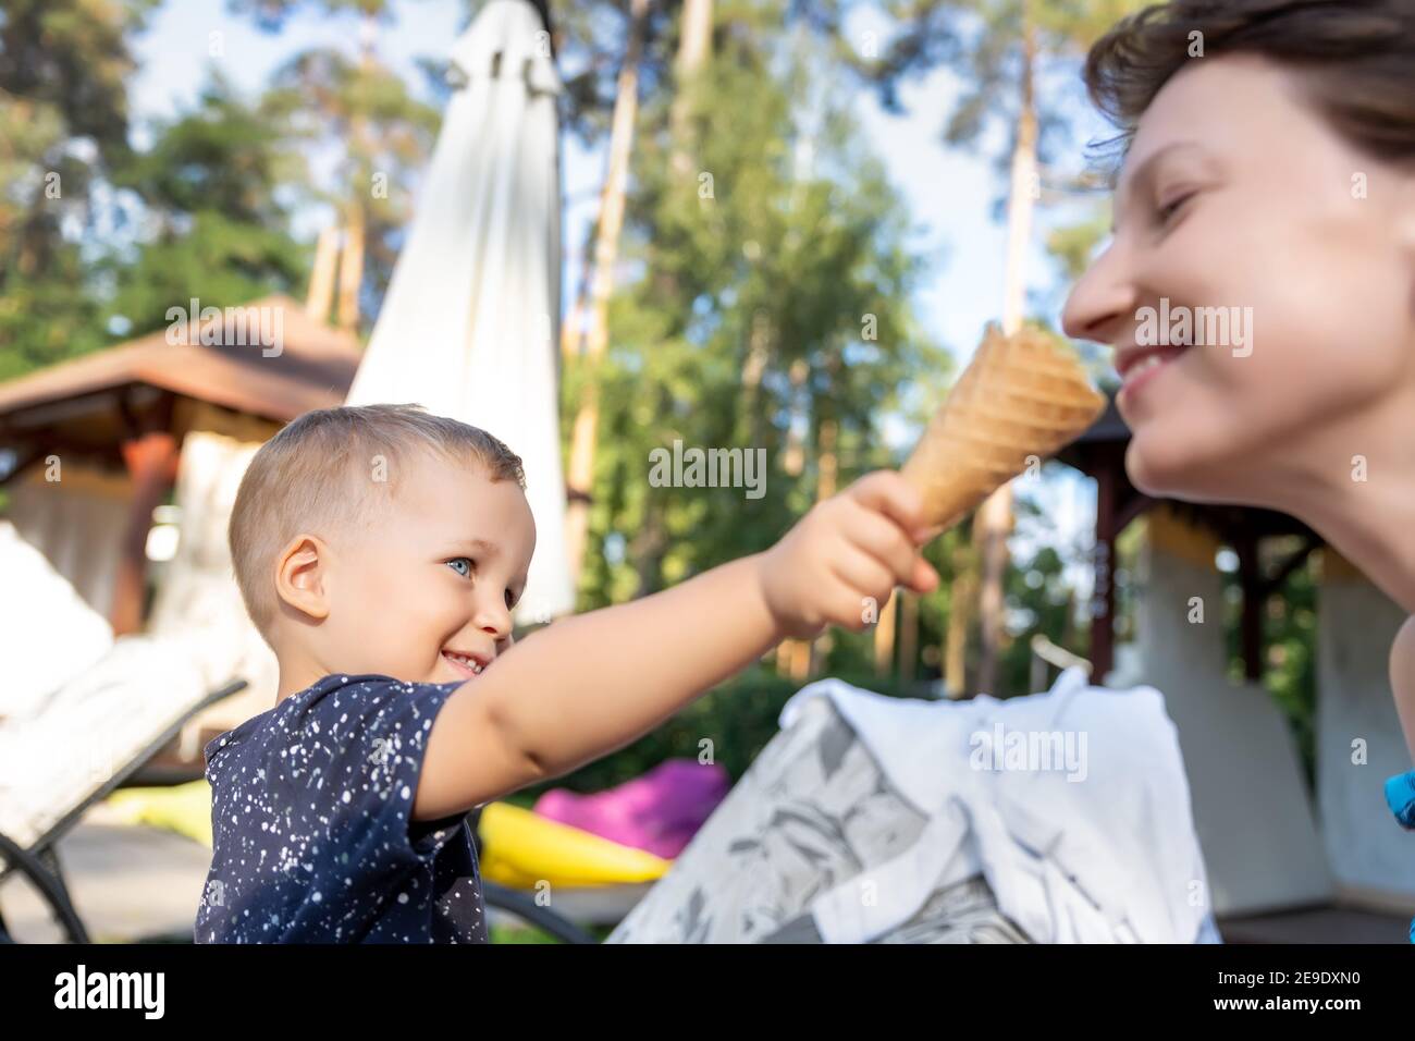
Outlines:
{"type": "Polygon", "coordinates": [[[1129,149],[1155,95],[1189,57],[1258,54],[1300,69],[1303,96],[1357,149],[1415,157],[1415,3],[1411,0],[1172,0],[1115,24],[1085,61],[1085,86],[1129,149]]]}

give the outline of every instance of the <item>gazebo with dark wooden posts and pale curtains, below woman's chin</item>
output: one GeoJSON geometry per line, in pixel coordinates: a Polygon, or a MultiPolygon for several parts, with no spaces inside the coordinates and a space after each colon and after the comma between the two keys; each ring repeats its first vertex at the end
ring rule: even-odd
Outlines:
{"type": "Polygon", "coordinates": [[[1136,653],[1118,674],[1121,686],[1153,684],[1165,695],[1224,938],[1404,942],[1415,911],[1409,854],[1380,797],[1381,779],[1408,763],[1384,661],[1402,613],[1293,517],[1140,493],[1125,473],[1129,438],[1112,398],[1060,455],[1097,483],[1092,674],[1099,680],[1116,664],[1116,540],[1131,521],[1148,516],[1138,561],[1136,653]],[[1279,537],[1296,548],[1274,562],[1259,547],[1279,537]],[[1227,582],[1215,559],[1221,547],[1237,555],[1241,681],[1228,673],[1224,626],[1211,623],[1217,619],[1193,625],[1186,615],[1194,601],[1223,595],[1227,582]],[[1269,596],[1279,595],[1319,548],[1316,769],[1309,779],[1289,725],[1261,683],[1262,622],[1269,596]]]}

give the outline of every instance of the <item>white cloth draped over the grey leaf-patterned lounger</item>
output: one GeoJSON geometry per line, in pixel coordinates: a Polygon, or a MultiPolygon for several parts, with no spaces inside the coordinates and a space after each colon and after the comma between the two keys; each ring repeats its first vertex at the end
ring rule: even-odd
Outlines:
{"type": "Polygon", "coordinates": [[[1217,939],[1177,732],[1153,687],[1090,687],[1070,669],[1046,694],[921,701],[822,680],[781,725],[816,697],[928,817],[907,853],[816,898],[826,942],[882,936],[979,872],[1039,943],[1217,939]]]}

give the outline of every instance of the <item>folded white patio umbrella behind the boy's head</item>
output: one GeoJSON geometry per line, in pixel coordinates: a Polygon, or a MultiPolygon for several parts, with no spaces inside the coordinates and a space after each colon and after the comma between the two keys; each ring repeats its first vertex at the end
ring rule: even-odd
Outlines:
{"type": "Polygon", "coordinates": [[[516,618],[546,620],[573,608],[556,416],[560,81],[526,0],[487,4],[451,61],[458,86],[348,402],[417,402],[522,457],[536,551],[516,618]]]}

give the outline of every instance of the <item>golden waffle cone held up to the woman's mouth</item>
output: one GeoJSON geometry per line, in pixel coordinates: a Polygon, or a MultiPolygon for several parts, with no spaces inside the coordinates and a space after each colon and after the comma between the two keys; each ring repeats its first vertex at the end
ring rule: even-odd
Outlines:
{"type": "Polygon", "coordinates": [[[982,346],[938,406],[903,474],[930,525],[955,524],[996,489],[1074,440],[1105,408],[1077,358],[1034,329],[982,346]]]}

